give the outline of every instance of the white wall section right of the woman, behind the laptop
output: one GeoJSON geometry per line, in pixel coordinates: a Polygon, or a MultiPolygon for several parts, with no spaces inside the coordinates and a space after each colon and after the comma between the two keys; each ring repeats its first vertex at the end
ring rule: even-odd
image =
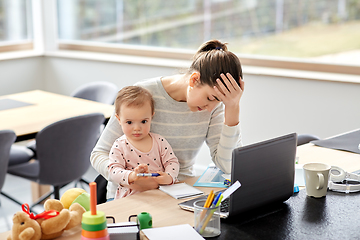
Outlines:
{"type": "Polygon", "coordinates": [[[244,80],[246,143],[289,132],[325,138],[360,128],[360,84],[254,75],[244,80]]]}

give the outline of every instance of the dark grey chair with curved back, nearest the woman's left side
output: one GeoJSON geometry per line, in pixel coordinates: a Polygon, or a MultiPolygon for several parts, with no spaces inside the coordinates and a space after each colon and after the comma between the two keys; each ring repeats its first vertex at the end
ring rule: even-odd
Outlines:
{"type": "Polygon", "coordinates": [[[10,166],[7,171],[14,176],[53,186],[53,191],[30,208],[52,194],[59,199],[61,187],[85,174],[104,119],[101,113],[81,115],[50,124],[37,133],[36,159],[10,166]]]}

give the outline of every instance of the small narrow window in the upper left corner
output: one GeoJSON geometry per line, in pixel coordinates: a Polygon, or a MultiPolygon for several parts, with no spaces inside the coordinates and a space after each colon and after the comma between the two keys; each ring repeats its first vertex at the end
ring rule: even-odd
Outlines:
{"type": "Polygon", "coordinates": [[[0,0],[0,52],[31,48],[31,1],[0,0]]]}

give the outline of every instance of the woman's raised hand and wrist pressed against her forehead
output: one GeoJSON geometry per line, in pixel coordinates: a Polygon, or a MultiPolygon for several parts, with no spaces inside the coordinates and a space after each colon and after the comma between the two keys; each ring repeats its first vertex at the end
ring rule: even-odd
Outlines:
{"type": "Polygon", "coordinates": [[[235,79],[230,73],[221,74],[221,79],[217,79],[217,86],[214,90],[219,98],[225,105],[225,125],[235,126],[239,123],[240,113],[240,98],[244,92],[244,81],[240,78],[240,86],[236,83],[235,79]]]}

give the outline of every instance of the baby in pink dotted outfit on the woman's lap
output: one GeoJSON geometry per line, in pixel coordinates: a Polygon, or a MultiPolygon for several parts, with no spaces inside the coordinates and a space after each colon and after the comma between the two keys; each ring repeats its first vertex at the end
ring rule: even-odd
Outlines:
{"type": "Polygon", "coordinates": [[[137,86],[119,91],[115,116],[124,135],[115,140],[108,166],[109,180],[119,184],[115,199],[139,192],[132,189],[131,184],[139,178],[148,178],[149,173],[158,184],[176,182],[180,168],[178,159],[166,139],[150,133],[153,115],[154,100],[149,91],[137,86]]]}

